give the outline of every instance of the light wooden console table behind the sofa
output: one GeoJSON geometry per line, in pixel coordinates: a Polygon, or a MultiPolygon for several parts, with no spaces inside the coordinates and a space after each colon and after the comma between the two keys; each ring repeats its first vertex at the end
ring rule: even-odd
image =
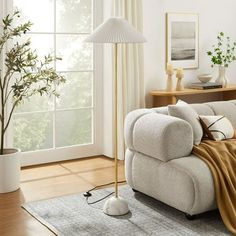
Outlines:
{"type": "Polygon", "coordinates": [[[227,88],[206,90],[187,88],[182,91],[172,92],[154,90],[151,91],[150,94],[153,96],[153,107],[175,104],[178,99],[183,99],[190,103],[226,101],[236,99],[236,85],[228,85],[227,88]]]}

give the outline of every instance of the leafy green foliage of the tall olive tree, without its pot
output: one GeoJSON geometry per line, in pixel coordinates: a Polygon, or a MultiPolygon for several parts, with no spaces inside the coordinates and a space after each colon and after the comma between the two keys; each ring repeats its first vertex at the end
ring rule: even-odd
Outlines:
{"type": "MultiPolygon", "coordinates": [[[[23,40],[22,42],[22,36],[30,30],[32,23],[26,22],[15,26],[14,21],[18,17],[21,17],[19,11],[15,11],[12,15],[7,15],[2,19],[3,30],[0,36],[0,49],[13,39],[16,41],[4,52],[6,70],[3,77],[0,78],[4,94],[10,90],[10,96],[3,97],[3,103],[7,104],[8,100],[11,100],[14,104],[12,111],[15,106],[35,94],[57,95],[55,85],[65,82],[65,78],[50,66],[53,61],[61,58],[54,58],[49,54],[40,61],[37,52],[31,48],[30,41],[23,40]],[[12,80],[13,77],[14,80],[12,80]],[[9,88],[7,88],[8,84],[9,88]],[[10,84],[12,85],[10,86],[10,84]]],[[[2,56],[2,50],[0,52],[2,56]]],[[[2,72],[1,68],[0,71],[2,72]]],[[[8,119],[10,121],[11,117],[6,117],[6,120],[8,119]]],[[[5,128],[7,129],[7,127],[5,128]]]]}

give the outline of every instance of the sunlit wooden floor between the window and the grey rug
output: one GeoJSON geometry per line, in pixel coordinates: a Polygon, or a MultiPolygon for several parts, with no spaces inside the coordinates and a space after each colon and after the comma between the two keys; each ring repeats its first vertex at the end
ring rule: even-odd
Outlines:
{"type": "MultiPolygon", "coordinates": [[[[124,164],[119,163],[119,180],[124,180],[124,164]]],[[[25,202],[80,193],[114,180],[114,162],[94,157],[24,168],[21,188],[0,194],[0,236],[48,236],[46,227],[21,208],[25,202]]]]}

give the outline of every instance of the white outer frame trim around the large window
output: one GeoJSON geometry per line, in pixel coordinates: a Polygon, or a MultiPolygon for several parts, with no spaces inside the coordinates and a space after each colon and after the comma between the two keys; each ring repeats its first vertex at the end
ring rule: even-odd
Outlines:
{"type": "MultiPolygon", "coordinates": [[[[0,0],[0,17],[12,9],[12,2],[0,0]],[[10,4],[9,4],[10,3],[10,4]]],[[[103,21],[103,1],[93,0],[93,27],[96,28],[103,21]]],[[[21,165],[29,166],[77,158],[97,156],[102,154],[103,145],[103,48],[102,45],[94,45],[94,74],[93,74],[93,144],[61,147],[55,149],[23,152],[21,165]]],[[[10,146],[12,130],[9,129],[6,136],[6,144],[10,146]]]]}

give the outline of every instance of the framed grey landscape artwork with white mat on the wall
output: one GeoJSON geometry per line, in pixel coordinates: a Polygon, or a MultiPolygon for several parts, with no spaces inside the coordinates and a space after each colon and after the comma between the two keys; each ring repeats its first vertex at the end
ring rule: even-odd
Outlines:
{"type": "Polygon", "coordinates": [[[166,14],[166,59],[176,69],[198,68],[198,14],[166,14]]]}

